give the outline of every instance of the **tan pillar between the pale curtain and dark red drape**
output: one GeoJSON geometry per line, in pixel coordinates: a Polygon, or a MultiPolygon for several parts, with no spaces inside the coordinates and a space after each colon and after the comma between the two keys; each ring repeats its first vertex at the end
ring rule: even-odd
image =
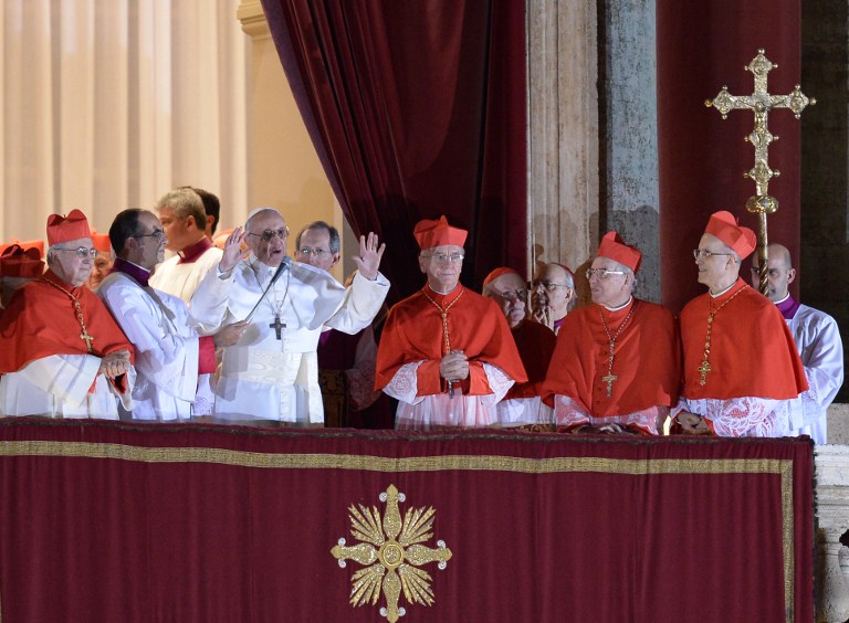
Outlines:
{"type": "MultiPolygon", "coordinates": [[[[283,213],[292,230],[289,252],[293,253],[294,234],[303,225],[322,220],[343,232],[344,219],[292,96],[262,4],[242,0],[237,18],[251,38],[248,202],[283,213]]],[[[332,272],[342,279],[343,271],[337,265],[332,272]]]]}

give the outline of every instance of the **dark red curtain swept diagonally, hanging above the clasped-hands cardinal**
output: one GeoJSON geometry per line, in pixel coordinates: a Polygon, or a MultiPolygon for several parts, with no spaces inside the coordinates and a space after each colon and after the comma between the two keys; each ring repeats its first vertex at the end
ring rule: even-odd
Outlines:
{"type": "Polygon", "coordinates": [[[470,231],[467,284],[495,266],[523,270],[524,3],[262,4],[345,217],[387,242],[394,298],[421,286],[421,218],[446,214],[470,231]]]}

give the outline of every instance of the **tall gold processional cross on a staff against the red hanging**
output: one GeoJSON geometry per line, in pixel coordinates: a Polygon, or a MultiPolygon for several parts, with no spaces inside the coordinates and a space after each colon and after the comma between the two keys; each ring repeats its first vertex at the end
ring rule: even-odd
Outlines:
{"type": "Polygon", "coordinates": [[[771,95],[766,89],[766,80],[769,71],[778,65],[764,56],[763,50],[758,50],[757,56],[744,67],[755,76],[755,92],[752,95],[731,95],[729,87],[723,86],[716,97],[704,102],[705,106],[716,108],[723,119],[727,118],[731,110],[752,110],[755,114],[755,129],[745,138],[755,148],[755,166],[743,176],[753,180],[756,188],[756,194],[746,201],[746,210],[757,214],[757,256],[761,268],[761,292],[764,295],[768,292],[766,281],[766,215],[778,209],[778,201],[767,194],[767,187],[772,178],[780,175],[778,170],[769,168],[769,144],[778,140],[777,136],[769,134],[767,127],[769,110],[789,108],[798,119],[808,104],[813,106],[817,103],[813,97],[808,98],[800,91],[798,84],[788,95],[771,95]]]}

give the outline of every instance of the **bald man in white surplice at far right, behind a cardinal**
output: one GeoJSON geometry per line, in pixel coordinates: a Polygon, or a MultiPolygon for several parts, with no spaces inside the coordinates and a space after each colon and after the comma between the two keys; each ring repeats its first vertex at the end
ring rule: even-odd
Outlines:
{"type": "MultiPolygon", "coordinates": [[[[795,300],[789,284],[796,278],[790,252],[780,244],[767,246],[767,297],[775,303],[790,328],[805,367],[808,391],[786,400],[777,410],[788,434],[809,435],[828,443],[828,405],[843,384],[843,342],[837,321],[819,309],[795,300]]],[[[758,258],[752,262],[752,287],[761,287],[758,258]]]]}

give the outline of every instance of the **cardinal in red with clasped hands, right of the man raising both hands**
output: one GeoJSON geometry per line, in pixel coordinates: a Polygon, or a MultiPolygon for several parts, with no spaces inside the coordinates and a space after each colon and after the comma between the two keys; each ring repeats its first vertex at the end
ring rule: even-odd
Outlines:
{"type": "Polygon", "coordinates": [[[389,310],[377,351],[375,389],[398,399],[396,429],[497,425],[495,404],[527,381],[504,314],[460,283],[467,234],[444,217],[413,229],[427,284],[389,310]]]}

